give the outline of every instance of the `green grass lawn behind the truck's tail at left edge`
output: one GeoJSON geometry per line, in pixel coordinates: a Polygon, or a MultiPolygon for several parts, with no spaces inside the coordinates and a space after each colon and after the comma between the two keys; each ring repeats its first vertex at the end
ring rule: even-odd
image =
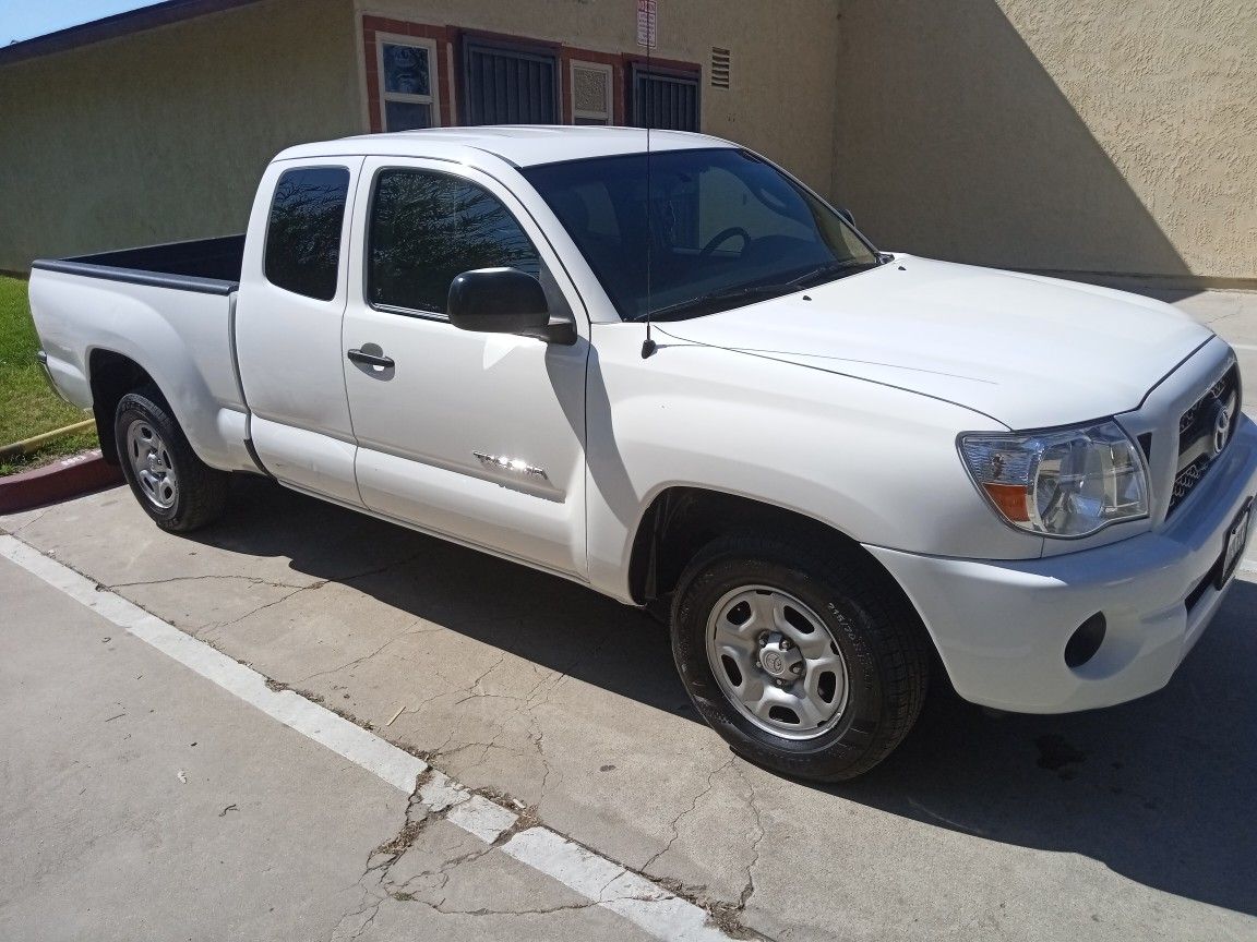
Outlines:
{"type": "MultiPolygon", "coordinates": [[[[26,283],[0,276],[0,446],[91,418],[58,398],[35,362],[39,339],[30,322],[26,283]]],[[[96,446],[96,432],[58,438],[33,455],[0,462],[0,475],[96,446]]]]}

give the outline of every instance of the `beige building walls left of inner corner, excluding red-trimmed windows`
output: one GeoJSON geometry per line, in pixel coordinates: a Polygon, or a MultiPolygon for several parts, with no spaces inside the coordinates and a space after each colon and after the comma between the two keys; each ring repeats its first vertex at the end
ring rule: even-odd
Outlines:
{"type": "MultiPolygon", "coordinates": [[[[703,67],[704,131],[827,190],[833,0],[660,6],[654,54],[703,67]],[[711,46],[732,50],[729,89],[711,46]]],[[[0,65],[0,269],[243,230],[277,151],[367,131],[363,13],[644,51],[636,0],[266,0],[0,65]]]]}

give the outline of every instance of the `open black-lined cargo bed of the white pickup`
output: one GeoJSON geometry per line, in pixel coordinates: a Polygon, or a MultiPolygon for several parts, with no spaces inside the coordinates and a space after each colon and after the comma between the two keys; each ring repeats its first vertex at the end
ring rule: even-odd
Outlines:
{"type": "Polygon", "coordinates": [[[243,259],[244,235],[240,234],[69,259],[38,259],[31,268],[202,294],[230,294],[240,285],[243,259]]]}

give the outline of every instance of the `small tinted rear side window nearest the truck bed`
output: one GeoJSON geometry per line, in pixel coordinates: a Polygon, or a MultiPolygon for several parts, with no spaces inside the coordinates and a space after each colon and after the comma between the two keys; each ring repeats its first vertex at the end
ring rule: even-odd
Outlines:
{"type": "Polygon", "coordinates": [[[266,226],[268,281],[321,301],[336,296],[348,192],[344,167],[290,170],[279,178],[266,226]]]}

